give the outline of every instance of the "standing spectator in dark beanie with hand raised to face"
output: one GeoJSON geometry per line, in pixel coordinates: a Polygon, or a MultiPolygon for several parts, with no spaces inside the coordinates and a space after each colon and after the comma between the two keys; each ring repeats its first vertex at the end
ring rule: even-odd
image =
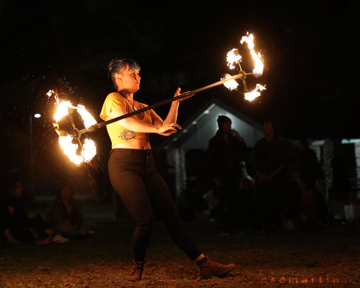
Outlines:
{"type": "Polygon", "coordinates": [[[209,140],[208,152],[211,179],[218,198],[217,217],[220,233],[236,232],[236,203],[241,178],[241,153],[246,144],[240,134],[231,129],[231,119],[217,118],[218,130],[209,140]]]}

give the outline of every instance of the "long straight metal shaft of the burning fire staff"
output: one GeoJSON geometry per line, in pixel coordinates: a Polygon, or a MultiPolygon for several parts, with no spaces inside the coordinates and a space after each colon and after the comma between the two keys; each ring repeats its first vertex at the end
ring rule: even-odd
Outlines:
{"type": "Polygon", "coordinates": [[[147,111],[147,110],[152,109],[152,108],[155,108],[155,107],[159,107],[159,106],[165,105],[165,104],[170,103],[170,102],[172,102],[172,101],[175,101],[175,100],[177,100],[177,99],[184,98],[184,97],[186,97],[186,96],[189,96],[189,95],[192,95],[192,94],[201,92],[201,91],[203,91],[203,90],[206,90],[206,89],[215,87],[215,86],[217,86],[217,85],[221,85],[221,84],[223,84],[223,83],[225,83],[225,82],[227,82],[227,81],[234,80],[234,79],[237,79],[237,78],[241,78],[241,79],[246,78],[246,75],[248,75],[248,74],[252,74],[252,73],[245,73],[245,71],[242,71],[242,70],[241,70],[241,71],[239,71],[239,73],[238,73],[237,75],[235,75],[235,76],[231,76],[231,77],[228,77],[228,78],[226,78],[226,79],[223,79],[223,80],[214,82],[214,83],[212,83],[212,84],[209,84],[209,85],[207,85],[207,86],[204,86],[204,87],[201,87],[201,88],[197,88],[197,89],[194,89],[194,90],[192,90],[192,91],[188,91],[188,92],[182,93],[182,94],[180,94],[180,95],[178,95],[178,96],[175,96],[175,97],[171,97],[171,98],[162,100],[162,101],[160,101],[160,102],[154,103],[154,104],[152,104],[152,105],[149,105],[149,106],[146,106],[146,107],[144,107],[144,108],[141,108],[141,109],[132,111],[132,112],[127,113],[127,114],[123,114],[123,115],[121,115],[121,116],[112,118],[112,119],[110,119],[110,120],[103,121],[103,122],[101,122],[101,123],[93,124],[93,125],[89,126],[87,129],[86,129],[86,128],[84,128],[84,129],[82,129],[82,130],[73,129],[73,130],[72,130],[72,132],[73,132],[73,133],[72,133],[72,134],[73,134],[73,137],[74,137],[75,139],[78,139],[78,138],[81,136],[81,134],[83,134],[83,133],[93,132],[93,131],[97,130],[98,128],[101,128],[101,127],[103,127],[103,126],[106,126],[106,125],[108,125],[108,124],[110,124],[110,123],[116,122],[116,121],[118,121],[118,120],[121,120],[121,119],[130,117],[130,116],[133,116],[133,115],[136,115],[136,114],[138,114],[138,113],[147,111]]]}

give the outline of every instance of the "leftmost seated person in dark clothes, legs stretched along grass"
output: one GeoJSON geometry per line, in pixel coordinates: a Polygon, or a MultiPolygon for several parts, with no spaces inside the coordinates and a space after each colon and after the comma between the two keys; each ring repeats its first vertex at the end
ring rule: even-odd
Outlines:
{"type": "Polygon", "coordinates": [[[5,195],[1,208],[1,234],[7,244],[14,246],[22,242],[33,244],[49,244],[52,242],[68,242],[56,233],[46,221],[35,211],[25,211],[23,187],[16,181],[12,189],[5,195]],[[36,232],[47,235],[39,238],[36,232]]]}

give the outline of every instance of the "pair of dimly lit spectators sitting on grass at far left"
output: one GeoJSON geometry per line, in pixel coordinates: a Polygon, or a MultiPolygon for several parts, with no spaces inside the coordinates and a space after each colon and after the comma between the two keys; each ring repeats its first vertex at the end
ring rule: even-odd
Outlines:
{"type": "Polygon", "coordinates": [[[47,217],[33,209],[31,197],[18,179],[1,190],[0,203],[0,242],[7,246],[66,243],[71,237],[88,235],[96,225],[92,219],[83,219],[68,183],[60,186],[47,217]]]}

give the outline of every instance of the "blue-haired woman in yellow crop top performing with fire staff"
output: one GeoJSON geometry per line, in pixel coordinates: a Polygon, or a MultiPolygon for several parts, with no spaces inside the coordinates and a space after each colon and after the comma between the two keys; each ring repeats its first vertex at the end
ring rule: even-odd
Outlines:
{"type": "MultiPolygon", "coordinates": [[[[136,101],[133,94],[139,89],[140,67],[129,59],[112,59],[108,71],[116,91],[107,95],[100,113],[103,120],[113,119],[147,104],[136,101]]],[[[177,88],[174,96],[180,94],[177,88]]],[[[169,136],[181,127],[176,123],[180,101],[172,101],[162,120],[152,109],[106,125],[111,139],[108,173],[112,186],[121,197],[137,225],[132,236],[132,269],[127,279],[138,281],[144,267],[145,251],[154,224],[154,210],[162,220],[174,243],[199,266],[200,276],[223,275],[234,264],[219,264],[204,255],[192,241],[181,222],[171,193],[154,167],[149,133],[169,136]]]]}

